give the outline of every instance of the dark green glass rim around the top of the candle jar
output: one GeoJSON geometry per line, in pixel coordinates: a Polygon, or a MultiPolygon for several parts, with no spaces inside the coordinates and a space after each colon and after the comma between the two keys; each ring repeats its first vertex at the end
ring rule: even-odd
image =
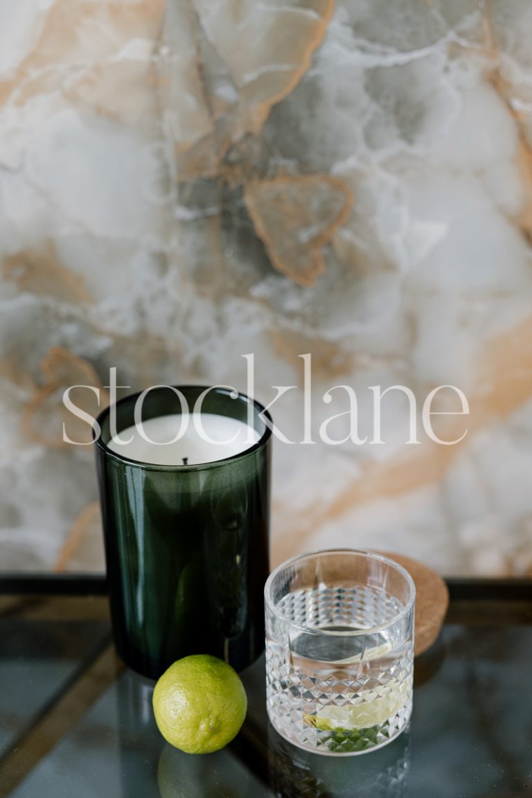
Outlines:
{"type": "MultiPolygon", "coordinates": [[[[157,388],[161,389],[164,389],[166,387],[167,386],[157,386],[157,388]]],[[[204,391],[210,386],[169,385],[168,387],[176,388],[179,389],[180,391],[187,389],[204,391]]],[[[137,393],[129,393],[127,397],[119,399],[114,406],[116,408],[119,408],[120,405],[124,405],[126,402],[131,402],[131,401],[135,402],[137,398],[140,397],[141,393],[142,391],[138,391],[137,393]]],[[[232,392],[227,388],[222,388],[221,386],[214,385],[211,388],[211,393],[223,393],[224,395],[231,397],[231,393],[234,392],[232,392]]],[[[270,416],[270,413],[268,413],[264,405],[261,405],[261,403],[258,402],[256,399],[250,399],[250,397],[246,396],[245,393],[241,393],[240,391],[238,391],[238,396],[234,397],[233,401],[242,401],[246,405],[252,403],[254,406],[254,410],[257,412],[257,414],[260,414],[263,417],[265,417],[269,422],[270,426],[265,423],[265,429],[261,437],[249,448],[244,449],[243,452],[238,452],[238,454],[231,455],[231,457],[223,457],[220,460],[210,460],[207,463],[197,463],[191,465],[160,465],[156,463],[142,463],[140,460],[132,460],[131,457],[126,457],[125,455],[121,455],[118,452],[113,451],[111,448],[108,447],[108,445],[104,442],[104,440],[101,439],[101,434],[98,437],[95,436],[94,429],[93,429],[93,442],[98,448],[100,448],[105,453],[106,456],[110,457],[112,460],[117,460],[119,463],[124,463],[126,465],[135,466],[136,468],[140,468],[142,471],[176,472],[179,470],[179,473],[181,473],[181,472],[207,471],[211,468],[220,468],[221,466],[227,463],[235,463],[238,462],[238,460],[244,460],[246,457],[249,457],[254,452],[257,452],[258,449],[262,448],[262,446],[266,444],[266,441],[269,440],[271,437],[271,427],[273,426],[273,421],[272,417],[270,416]]],[[[109,413],[111,412],[111,407],[112,405],[108,405],[108,407],[102,410],[101,413],[97,416],[96,421],[97,425],[99,425],[99,429],[101,429],[104,420],[108,417],[109,413]]]]}

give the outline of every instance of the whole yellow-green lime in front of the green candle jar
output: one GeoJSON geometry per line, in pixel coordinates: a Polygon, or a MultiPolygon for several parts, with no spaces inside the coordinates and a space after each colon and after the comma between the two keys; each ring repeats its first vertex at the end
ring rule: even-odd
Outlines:
{"type": "Polygon", "coordinates": [[[246,709],[246,690],[238,674],[209,654],[174,662],[153,691],[160,733],[186,753],[222,749],[238,734],[246,709]]]}

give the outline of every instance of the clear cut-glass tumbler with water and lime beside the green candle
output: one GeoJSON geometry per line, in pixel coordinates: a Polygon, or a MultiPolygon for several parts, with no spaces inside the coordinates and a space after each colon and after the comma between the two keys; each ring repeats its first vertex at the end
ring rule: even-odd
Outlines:
{"type": "Polygon", "coordinates": [[[412,713],[411,576],[353,549],[288,560],[267,579],[266,701],[274,728],[329,755],[380,748],[412,713]]]}

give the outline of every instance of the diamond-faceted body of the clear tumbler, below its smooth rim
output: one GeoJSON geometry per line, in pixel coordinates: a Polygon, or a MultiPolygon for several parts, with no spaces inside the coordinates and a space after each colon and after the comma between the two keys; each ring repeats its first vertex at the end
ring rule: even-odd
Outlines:
{"type": "Polygon", "coordinates": [[[377,587],[322,586],[277,606],[287,623],[267,623],[267,707],[282,737],[356,754],[400,734],[412,711],[413,655],[412,623],[393,624],[400,602],[377,587]]]}

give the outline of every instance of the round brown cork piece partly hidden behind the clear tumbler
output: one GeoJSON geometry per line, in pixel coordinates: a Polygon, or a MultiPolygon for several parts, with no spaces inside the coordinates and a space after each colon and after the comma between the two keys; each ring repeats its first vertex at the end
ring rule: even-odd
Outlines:
{"type": "Polygon", "coordinates": [[[449,591],[441,576],[416,559],[378,551],[384,557],[395,560],[412,576],[416,585],[416,640],[414,655],[423,654],[439,635],[449,606],[449,591]]]}

